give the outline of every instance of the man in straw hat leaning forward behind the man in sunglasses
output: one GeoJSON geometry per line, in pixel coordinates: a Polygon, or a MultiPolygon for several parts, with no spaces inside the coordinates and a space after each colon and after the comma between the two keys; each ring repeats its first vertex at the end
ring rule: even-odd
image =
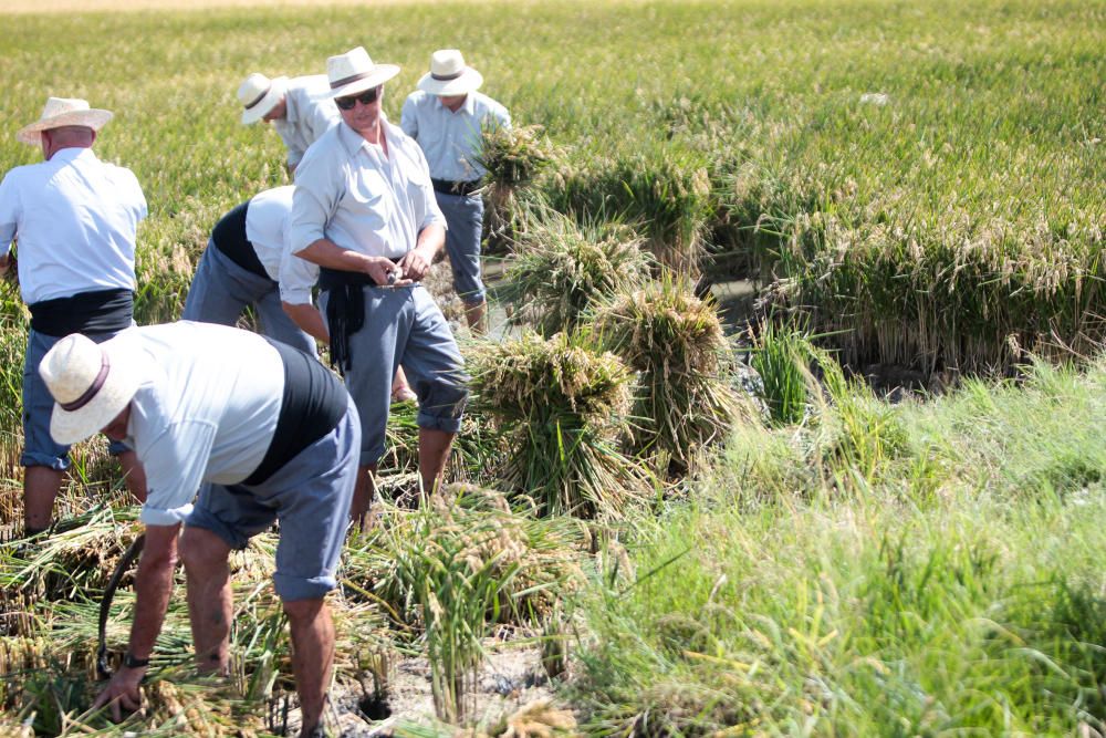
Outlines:
{"type": "Polygon", "coordinates": [[[242,124],[272,123],[288,148],[288,169],[295,167],[315,141],[338,124],[338,108],[323,74],[270,80],[254,72],[238,89],[242,124]]]}

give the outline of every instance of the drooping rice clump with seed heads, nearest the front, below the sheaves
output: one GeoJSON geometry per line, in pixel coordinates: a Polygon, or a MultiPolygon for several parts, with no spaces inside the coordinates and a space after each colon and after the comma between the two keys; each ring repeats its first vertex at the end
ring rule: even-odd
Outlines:
{"type": "Polygon", "coordinates": [[[372,591],[421,633],[435,710],[472,714],[483,638],[495,623],[538,624],[582,581],[582,536],[555,520],[512,511],[491,490],[451,485],[390,521],[351,561],[376,571],[372,591]]]}

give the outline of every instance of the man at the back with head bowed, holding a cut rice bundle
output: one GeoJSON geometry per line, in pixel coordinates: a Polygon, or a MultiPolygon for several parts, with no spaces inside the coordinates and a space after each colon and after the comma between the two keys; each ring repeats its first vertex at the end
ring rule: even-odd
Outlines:
{"type": "Polygon", "coordinates": [[[453,289],[465,303],[469,328],[482,329],[488,303],[480,279],[483,199],[478,191],[487,170],[478,162],[481,131],[511,125],[507,108],[479,90],[480,72],[457,49],[430,56],[430,71],[404,102],[400,126],[418,142],[430,166],[435,198],[449,228],[446,252],[453,289]]]}

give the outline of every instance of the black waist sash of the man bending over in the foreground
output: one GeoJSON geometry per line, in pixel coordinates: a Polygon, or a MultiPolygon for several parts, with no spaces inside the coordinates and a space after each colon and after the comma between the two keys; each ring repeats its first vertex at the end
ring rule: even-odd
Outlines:
{"type": "Polygon", "coordinates": [[[284,364],[284,393],[276,430],[261,464],[243,485],[260,485],[300,451],[333,430],[345,416],[347,395],[338,378],[312,356],[269,341],[284,364]]]}

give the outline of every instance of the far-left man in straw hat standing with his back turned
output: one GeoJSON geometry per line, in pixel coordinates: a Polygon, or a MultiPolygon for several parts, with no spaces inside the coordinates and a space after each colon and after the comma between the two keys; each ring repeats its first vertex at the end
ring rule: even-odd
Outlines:
{"type": "MultiPolygon", "coordinates": [[[[43,162],[11,169],[0,183],[0,273],[17,242],[19,287],[31,311],[23,370],[23,520],[28,534],[50,527],[70,466],[69,446],[50,437],[53,399],[35,367],[63,335],[106,341],[133,323],[135,235],[146,198],[134,174],[96,158],[96,133],[112,119],[84,100],[50,97],[15,138],[42,148],[43,162]]],[[[134,454],[114,445],[127,486],[145,496],[134,454]]]]}

